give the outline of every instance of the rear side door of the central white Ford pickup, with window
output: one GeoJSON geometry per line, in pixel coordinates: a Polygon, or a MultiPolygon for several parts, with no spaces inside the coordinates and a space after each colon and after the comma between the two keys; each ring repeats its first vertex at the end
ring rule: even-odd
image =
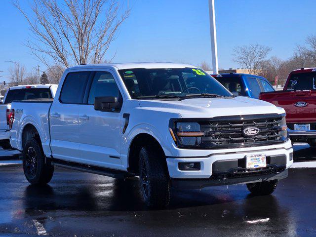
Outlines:
{"type": "Polygon", "coordinates": [[[79,161],[79,144],[84,139],[79,132],[79,110],[91,72],[69,72],[59,98],[50,109],[51,151],[54,158],[79,161]]]}

